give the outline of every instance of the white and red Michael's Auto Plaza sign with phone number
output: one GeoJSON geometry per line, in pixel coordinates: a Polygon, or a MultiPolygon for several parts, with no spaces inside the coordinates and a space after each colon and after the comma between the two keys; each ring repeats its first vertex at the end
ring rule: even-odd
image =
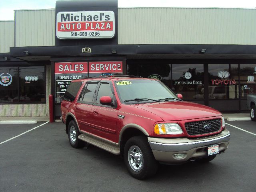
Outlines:
{"type": "Polygon", "coordinates": [[[113,38],[115,14],[112,11],[58,12],[56,36],[59,39],[113,38]]]}

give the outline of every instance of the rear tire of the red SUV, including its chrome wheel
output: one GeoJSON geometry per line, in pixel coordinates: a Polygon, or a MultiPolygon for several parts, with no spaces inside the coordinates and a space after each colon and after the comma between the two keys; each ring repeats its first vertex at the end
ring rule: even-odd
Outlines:
{"type": "Polygon", "coordinates": [[[72,147],[82,148],[84,147],[85,142],[78,139],[80,132],[74,120],[70,121],[68,124],[68,140],[72,147]]]}

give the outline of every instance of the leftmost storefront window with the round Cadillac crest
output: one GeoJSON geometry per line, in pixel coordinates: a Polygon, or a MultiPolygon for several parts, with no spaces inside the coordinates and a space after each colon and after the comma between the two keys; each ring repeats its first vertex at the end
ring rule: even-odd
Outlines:
{"type": "Polygon", "coordinates": [[[0,67],[0,102],[18,101],[18,67],[0,67]]]}

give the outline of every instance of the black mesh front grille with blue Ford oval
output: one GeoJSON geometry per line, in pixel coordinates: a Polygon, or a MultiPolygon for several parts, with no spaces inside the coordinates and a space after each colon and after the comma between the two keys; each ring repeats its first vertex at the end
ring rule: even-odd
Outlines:
{"type": "Polygon", "coordinates": [[[186,131],[189,135],[202,135],[217,132],[221,128],[220,119],[210,119],[185,123],[186,131]],[[206,126],[206,125],[210,125],[206,126]],[[206,128],[205,128],[206,126],[206,128]]]}

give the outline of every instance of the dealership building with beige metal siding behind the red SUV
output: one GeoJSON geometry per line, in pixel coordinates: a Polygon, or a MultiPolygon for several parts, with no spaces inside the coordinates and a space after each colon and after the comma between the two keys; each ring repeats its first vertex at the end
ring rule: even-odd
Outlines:
{"type": "Polygon", "coordinates": [[[57,1],[15,10],[0,34],[0,117],[47,117],[52,94],[58,118],[70,81],[102,74],[157,78],[222,112],[245,112],[256,94],[256,9],[57,1]]]}

